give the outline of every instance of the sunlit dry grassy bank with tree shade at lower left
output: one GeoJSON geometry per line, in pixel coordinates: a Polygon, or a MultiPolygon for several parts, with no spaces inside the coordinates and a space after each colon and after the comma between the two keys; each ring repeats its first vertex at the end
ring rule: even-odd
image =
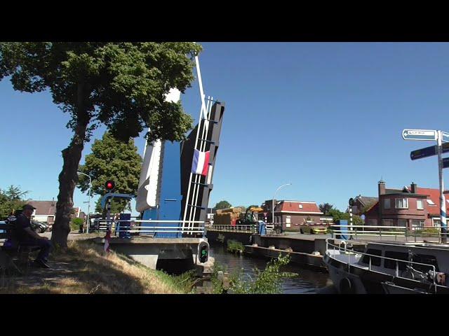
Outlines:
{"type": "Polygon", "coordinates": [[[29,267],[29,274],[1,276],[0,293],[176,294],[189,293],[190,274],[169,276],[125,255],[104,253],[90,241],[69,241],[67,253],[53,251],[53,269],[29,267]]]}

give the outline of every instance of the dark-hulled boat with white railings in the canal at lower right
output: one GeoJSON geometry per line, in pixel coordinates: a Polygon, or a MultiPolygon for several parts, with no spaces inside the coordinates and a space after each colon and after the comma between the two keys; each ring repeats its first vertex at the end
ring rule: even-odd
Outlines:
{"type": "Polygon", "coordinates": [[[449,293],[448,244],[328,238],[323,261],[338,293],[449,293]]]}

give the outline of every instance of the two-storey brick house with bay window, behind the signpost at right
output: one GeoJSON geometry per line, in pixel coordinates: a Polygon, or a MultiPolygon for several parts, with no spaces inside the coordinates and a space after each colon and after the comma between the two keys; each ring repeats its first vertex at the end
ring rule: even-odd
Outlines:
{"type": "MultiPolygon", "coordinates": [[[[384,181],[379,181],[378,193],[378,202],[366,211],[366,225],[407,226],[410,230],[440,225],[438,189],[418,188],[415,183],[402,189],[389,189],[384,181]]],[[[445,198],[447,213],[449,200],[445,198]]]]}

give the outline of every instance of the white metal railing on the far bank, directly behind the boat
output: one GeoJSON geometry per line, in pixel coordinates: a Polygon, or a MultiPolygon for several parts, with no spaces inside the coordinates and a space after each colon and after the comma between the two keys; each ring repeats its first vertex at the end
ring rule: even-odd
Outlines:
{"type": "MultiPolygon", "coordinates": [[[[363,236],[374,236],[380,237],[405,237],[405,240],[414,239],[422,237],[434,237],[438,238],[438,242],[441,242],[441,238],[444,234],[441,233],[441,226],[434,227],[424,227],[424,229],[437,229],[438,232],[420,232],[420,230],[408,230],[406,226],[384,226],[384,225],[330,225],[330,234],[334,238],[335,235],[349,236],[356,239],[357,237],[363,236]],[[342,229],[343,228],[343,229],[342,229]]],[[[415,227],[418,228],[418,227],[415,227]]],[[[422,228],[422,227],[419,227],[422,228]]],[[[448,235],[448,234],[446,234],[448,235]]]]}

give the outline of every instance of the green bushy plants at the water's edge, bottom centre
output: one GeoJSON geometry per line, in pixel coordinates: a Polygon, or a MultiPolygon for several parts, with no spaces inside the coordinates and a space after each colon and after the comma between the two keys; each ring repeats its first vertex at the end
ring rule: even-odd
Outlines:
{"type": "MultiPolygon", "coordinates": [[[[253,269],[255,278],[249,281],[243,280],[241,272],[234,273],[230,279],[229,293],[235,294],[279,294],[281,293],[281,278],[283,273],[280,268],[290,262],[290,255],[284,255],[272,259],[267,263],[263,271],[253,269]]],[[[290,275],[290,274],[287,274],[290,275]]]]}

